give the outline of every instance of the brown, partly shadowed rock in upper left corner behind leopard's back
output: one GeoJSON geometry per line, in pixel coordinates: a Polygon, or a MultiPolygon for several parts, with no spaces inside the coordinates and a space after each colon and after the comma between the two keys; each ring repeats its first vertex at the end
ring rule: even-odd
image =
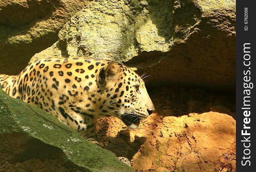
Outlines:
{"type": "Polygon", "coordinates": [[[1,0],[0,73],[22,71],[30,58],[58,40],[58,32],[89,0],[1,0]]]}

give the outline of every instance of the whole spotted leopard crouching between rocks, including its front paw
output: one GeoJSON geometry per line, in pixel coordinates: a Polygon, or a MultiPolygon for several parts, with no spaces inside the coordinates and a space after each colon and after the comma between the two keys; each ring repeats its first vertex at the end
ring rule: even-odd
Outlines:
{"type": "MultiPolygon", "coordinates": [[[[154,112],[142,77],[123,63],[90,57],[44,58],[17,76],[0,75],[3,91],[56,116],[97,144],[96,123],[115,116],[131,129],[154,112]]],[[[130,165],[127,158],[119,159],[130,165]]]]}

